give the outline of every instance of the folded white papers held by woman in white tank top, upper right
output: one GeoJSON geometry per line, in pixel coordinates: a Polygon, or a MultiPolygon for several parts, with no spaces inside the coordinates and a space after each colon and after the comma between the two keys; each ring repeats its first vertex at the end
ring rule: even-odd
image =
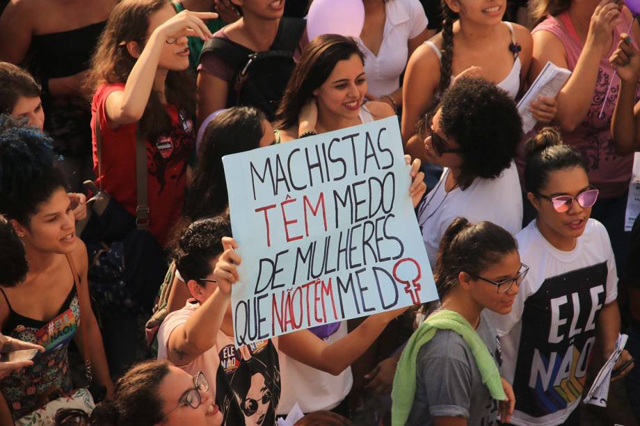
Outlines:
{"type": "Polygon", "coordinates": [[[525,96],[518,102],[518,112],[522,117],[522,131],[527,133],[536,125],[536,118],[529,107],[531,101],[538,99],[538,96],[556,97],[564,83],[567,82],[571,72],[568,69],[558,67],[551,62],[542,69],[536,77],[536,81],[531,85],[525,96]]]}

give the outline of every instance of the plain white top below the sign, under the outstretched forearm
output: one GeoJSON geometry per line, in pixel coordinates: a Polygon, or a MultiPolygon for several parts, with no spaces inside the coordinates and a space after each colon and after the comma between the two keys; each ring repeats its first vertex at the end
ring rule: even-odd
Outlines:
{"type": "MultiPolygon", "coordinates": [[[[339,329],[325,339],[331,344],[346,336],[346,321],[339,329]]],[[[353,385],[351,367],[339,375],[317,370],[280,352],[280,372],[282,373],[282,394],[278,404],[278,415],[287,415],[298,402],[303,413],[331,410],[346,398],[353,385]]]]}

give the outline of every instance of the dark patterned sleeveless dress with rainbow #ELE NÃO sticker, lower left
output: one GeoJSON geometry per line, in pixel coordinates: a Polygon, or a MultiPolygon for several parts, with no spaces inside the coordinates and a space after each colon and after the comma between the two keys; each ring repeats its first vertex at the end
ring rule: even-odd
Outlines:
{"type": "Polygon", "coordinates": [[[79,327],[80,303],[76,287],[72,286],[56,316],[40,321],[14,311],[1,288],[0,293],[9,308],[2,333],[45,347],[45,352],[33,358],[33,366],[11,372],[0,379],[0,391],[13,420],[17,420],[38,409],[39,396],[49,388],[59,388],[65,394],[72,391],[67,349],[79,327]]]}

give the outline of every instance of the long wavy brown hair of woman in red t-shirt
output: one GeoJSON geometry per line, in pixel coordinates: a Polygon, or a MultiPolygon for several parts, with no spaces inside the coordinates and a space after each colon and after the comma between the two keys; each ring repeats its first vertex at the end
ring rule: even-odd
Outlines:
{"type": "MultiPolygon", "coordinates": [[[[138,58],[129,54],[126,44],[142,40],[149,28],[149,18],[168,4],[168,0],[124,0],[111,12],[91,60],[88,85],[95,92],[102,83],[126,83],[138,58]]],[[[195,116],[195,79],[187,70],[169,71],[166,79],[166,99],[187,117],[195,116]]],[[[170,131],[170,117],[160,97],[152,90],[138,131],[150,140],[170,131]]]]}

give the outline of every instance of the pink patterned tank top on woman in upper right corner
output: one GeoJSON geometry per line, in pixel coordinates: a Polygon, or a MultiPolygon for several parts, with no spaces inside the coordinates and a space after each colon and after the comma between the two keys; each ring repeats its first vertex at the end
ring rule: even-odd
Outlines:
{"type": "MultiPolygon", "coordinates": [[[[620,40],[620,34],[627,31],[629,24],[628,17],[623,15],[623,22],[614,29],[614,42],[611,44],[611,51],[605,58],[600,59],[598,79],[595,82],[591,106],[584,121],[574,131],[562,132],[564,142],[573,145],[582,153],[587,167],[589,167],[589,181],[600,190],[600,197],[604,198],[623,195],[629,187],[631,179],[633,155],[616,155],[609,130],[611,116],[618,99],[618,90],[620,90],[620,79],[609,63],[609,56],[614,53],[618,40],[620,40]],[[609,96],[604,99],[611,79],[614,79],[614,82],[611,84],[609,96]],[[603,101],[605,109],[602,118],[598,118],[603,101]]],[[[561,13],[557,17],[547,17],[531,33],[536,33],[536,31],[549,31],[562,42],[567,53],[569,69],[573,71],[582,52],[582,43],[577,37],[568,12],[561,13]]],[[[640,90],[637,90],[636,101],[639,99],[640,90]]]]}

